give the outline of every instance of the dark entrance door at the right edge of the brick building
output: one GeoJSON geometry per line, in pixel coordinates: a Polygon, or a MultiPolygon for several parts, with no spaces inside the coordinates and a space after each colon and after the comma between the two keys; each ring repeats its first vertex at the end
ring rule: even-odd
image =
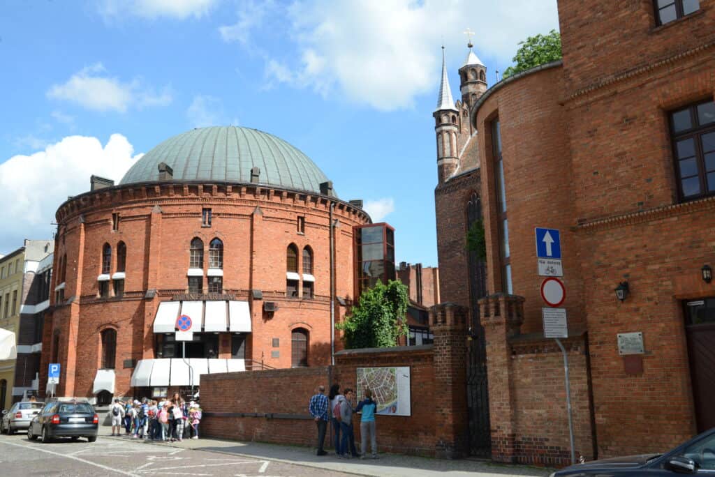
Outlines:
{"type": "Polygon", "coordinates": [[[715,427],[715,298],[686,301],[686,336],[698,432],[715,427]]]}

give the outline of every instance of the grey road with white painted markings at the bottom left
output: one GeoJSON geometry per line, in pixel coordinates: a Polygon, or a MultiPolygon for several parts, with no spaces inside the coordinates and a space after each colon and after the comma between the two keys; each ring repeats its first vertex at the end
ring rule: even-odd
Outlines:
{"type": "Polygon", "coordinates": [[[97,442],[0,435],[0,476],[349,476],[334,470],[99,436],[97,442]]]}

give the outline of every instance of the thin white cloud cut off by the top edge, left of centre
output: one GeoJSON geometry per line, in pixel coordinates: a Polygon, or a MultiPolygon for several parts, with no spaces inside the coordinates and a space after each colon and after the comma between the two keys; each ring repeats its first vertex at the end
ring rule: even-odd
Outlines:
{"type": "Polygon", "coordinates": [[[104,19],[132,15],[146,19],[167,16],[183,20],[189,16],[200,18],[217,3],[218,0],[103,0],[99,2],[99,13],[104,19]]]}

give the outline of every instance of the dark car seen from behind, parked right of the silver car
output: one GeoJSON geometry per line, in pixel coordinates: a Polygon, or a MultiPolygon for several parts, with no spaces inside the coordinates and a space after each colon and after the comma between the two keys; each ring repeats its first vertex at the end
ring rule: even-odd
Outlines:
{"type": "Polygon", "coordinates": [[[39,436],[42,442],[56,437],[71,437],[77,440],[97,441],[99,416],[92,404],[84,401],[51,401],[35,416],[27,428],[27,438],[34,441],[39,436]]]}

